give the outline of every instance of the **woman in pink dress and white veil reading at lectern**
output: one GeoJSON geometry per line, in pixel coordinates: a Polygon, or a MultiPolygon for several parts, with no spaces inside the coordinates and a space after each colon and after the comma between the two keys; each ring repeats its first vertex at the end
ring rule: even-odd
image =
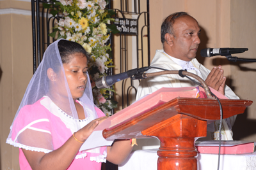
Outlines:
{"type": "Polygon", "coordinates": [[[93,129],[106,119],[93,104],[88,56],[83,46],[65,39],[45,51],[6,141],[19,147],[21,170],[99,170],[101,162],[120,164],[131,152],[129,140],[79,152],[93,129]]]}

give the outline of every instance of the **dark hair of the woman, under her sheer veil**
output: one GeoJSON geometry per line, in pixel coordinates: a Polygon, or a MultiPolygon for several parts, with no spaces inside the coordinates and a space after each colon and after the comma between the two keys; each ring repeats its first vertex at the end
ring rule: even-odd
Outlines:
{"type": "Polygon", "coordinates": [[[68,62],[70,62],[70,55],[74,53],[83,53],[86,56],[87,60],[90,59],[89,53],[86,52],[83,46],[79,45],[79,43],[61,39],[58,43],[58,48],[63,64],[67,64],[68,62]]]}

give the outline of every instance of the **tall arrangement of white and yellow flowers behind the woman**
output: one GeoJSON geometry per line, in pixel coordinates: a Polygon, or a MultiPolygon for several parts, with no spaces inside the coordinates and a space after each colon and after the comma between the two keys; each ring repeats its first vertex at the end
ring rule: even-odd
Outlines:
{"type": "Polygon", "coordinates": [[[107,10],[105,0],[52,0],[52,4],[44,3],[44,8],[51,9],[53,16],[61,14],[56,27],[49,36],[58,39],[65,38],[81,44],[90,53],[88,71],[92,82],[94,103],[106,115],[111,115],[111,109],[117,107],[117,102],[110,97],[111,88],[97,89],[95,80],[106,76],[110,63],[113,63],[111,46],[107,45],[109,32],[116,33],[115,25],[111,25],[113,10],[107,10]],[[58,32],[58,34],[57,34],[58,32]]]}

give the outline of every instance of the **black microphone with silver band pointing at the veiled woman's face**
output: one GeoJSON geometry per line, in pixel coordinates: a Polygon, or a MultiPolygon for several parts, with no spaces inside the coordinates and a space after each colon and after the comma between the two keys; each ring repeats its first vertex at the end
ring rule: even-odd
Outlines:
{"type": "Polygon", "coordinates": [[[135,74],[143,73],[148,69],[150,69],[150,67],[141,67],[140,69],[131,69],[124,73],[120,73],[112,76],[102,76],[101,78],[98,78],[95,81],[96,87],[98,87],[98,89],[108,88],[109,86],[115,84],[118,81],[125,80],[126,78],[134,76],[135,74]]]}

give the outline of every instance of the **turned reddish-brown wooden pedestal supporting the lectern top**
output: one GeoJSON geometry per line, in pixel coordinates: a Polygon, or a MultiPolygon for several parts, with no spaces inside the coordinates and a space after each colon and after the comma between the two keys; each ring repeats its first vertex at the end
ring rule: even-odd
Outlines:
{"type": "MultiPolygon", "coordinates": [[[[187,115],[175,115],[168,124],[154,132],[142,131],[147,136],[156,136],[161,146],[157,151],[158,169],[197,169],[195,138],[206,136],[207,122],[187,115]]],[[[157,125],[159,126],[159,124],[157,125]]],[[[156,127],[151,127],[150,129],[156,127]]]]}

